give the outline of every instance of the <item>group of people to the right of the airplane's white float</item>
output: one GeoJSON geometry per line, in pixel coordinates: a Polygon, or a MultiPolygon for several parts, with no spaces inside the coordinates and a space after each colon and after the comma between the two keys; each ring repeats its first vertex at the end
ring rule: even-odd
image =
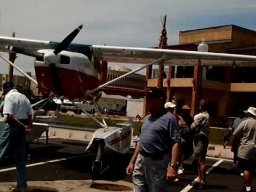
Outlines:
{"type": "MultiPolygon", "coordinates": [[[[177,175],[185,171],[183,161],[191,155],[193,165],[197,165],[198,177],[190,185],[205,189],[205,157],[210,133],[207,101],[200,101],[201,112],[193,118],[188,105],[182,106],[179,115],[175,114],[176,105],[166,102],[166,94],[162,90],[150,90],[147,99],[149,115],[145,117],[140,141],[126,168],[126,173],[132,175],[134,191],[171,191],[170,184],[178,181],[177,175]]],[[[233,166],[243,171],[242,190],[252,191],[252,175],[256,169],[256,108],[241,110],[232,128],[227,128],[224,147],[233,134],[233,166]]]]}

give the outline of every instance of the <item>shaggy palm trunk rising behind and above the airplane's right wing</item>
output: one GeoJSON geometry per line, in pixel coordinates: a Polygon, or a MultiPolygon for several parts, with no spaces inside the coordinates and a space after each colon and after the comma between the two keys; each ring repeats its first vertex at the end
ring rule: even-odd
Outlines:
{"type": "MultiPolygon", "coordinates": [[[[159,37],[159,49],[166,49],[167,47],[167,32],[166,32],[166,15],[164,15],[162,20],[163,29],[161,31],[160,37],[159,37]]],[[[163,74],[164,74],[164,63],[158,63],[158,79],[157,79],[157,88],[163,89],[163,74]]]]}

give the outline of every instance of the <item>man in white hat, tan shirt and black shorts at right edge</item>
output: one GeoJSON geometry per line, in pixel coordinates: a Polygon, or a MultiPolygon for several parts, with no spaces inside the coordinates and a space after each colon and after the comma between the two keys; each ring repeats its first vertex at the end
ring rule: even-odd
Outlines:
{"type": "Polygon", "coordinates": [[[252,175],[256,169],[256,108],[249,107],[248,118],[241,122],[233,135],[238,147],[238,169],[244,171],[243,191],[252,191],[252,175]]]}

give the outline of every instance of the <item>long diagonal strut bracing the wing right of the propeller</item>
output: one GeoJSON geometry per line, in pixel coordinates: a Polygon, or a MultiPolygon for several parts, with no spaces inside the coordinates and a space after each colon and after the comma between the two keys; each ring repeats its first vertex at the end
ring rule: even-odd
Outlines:
{"type": "Polygon", "coordinates": [[[117,78],[115,78],[115,79],[113,79],[113,80],[107,82],[107,83],[104,83],[104,84],[98,86],[97,88],[95,88],[95,89],[93,89],[93,90],[88,90],[88,91],[86,91],[85,95],[89,95],[89,94],[92,94],[92,93],[94,93],[94,92],[97,92],[97,91],[101,90],[102,88],[104,88],[105,86],[107,86],[107,85],[109,85],[109,84],[111,84],[111,83],[114,83],[114,82],[118,81],[119,79],[121,79],[121,78],[123,78],[123,77],[126,77],[126,76],[128,76],[128,75],[134,74],[134,73],[136,73],[136,72],[139,71],[139,70],[142,70],[142,69],[144,69],[144,68],[146,68],[146,67],[149,67],[149,66],[153,65],[153,64],[156,63],[156,62],[163,62],[165,59],[166,59],[166,56],[164,55],[163,57],[161,57],[161,58],[159,58],[159,59],[157,59],[157,60],[154,60],[154,61],[152,61],[152,62],[150,62],[150,63],[147,63],[146,65],[144,65],[144,66],[142,66],[142,67],[139,67],[139,68],[137,68],[137,69],[134,69],[134,70],[132,70],[132,71],[130,71],[130,72],[124,74],[124,75],[121,75],[121,76],[119,76],[119,77],[117,77],[117,78]]]}

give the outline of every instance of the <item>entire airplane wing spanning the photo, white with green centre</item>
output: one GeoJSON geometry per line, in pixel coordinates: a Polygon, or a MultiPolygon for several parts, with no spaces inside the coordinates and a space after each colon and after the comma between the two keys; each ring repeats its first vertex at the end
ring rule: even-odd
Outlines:
{"type": "MultiPolygon", "coordinates": [[[[0,51],[8,52],[6,46],[24,47],[29,50],[55,49],[58,42],[0,36],[0,51]]],[[[198,59],[205,66],[256,66],[256,57],[227,53],[211,53],[183,50],[163,50],[153,48],[84,45],[71,43],[68,51],[88,54],[92,50],[95,57],[102,61],[145,64],[165,55],[165,65],[195,66],[198,59]],[[234,63],[235,61],[235,63],[234,63]]]]}

